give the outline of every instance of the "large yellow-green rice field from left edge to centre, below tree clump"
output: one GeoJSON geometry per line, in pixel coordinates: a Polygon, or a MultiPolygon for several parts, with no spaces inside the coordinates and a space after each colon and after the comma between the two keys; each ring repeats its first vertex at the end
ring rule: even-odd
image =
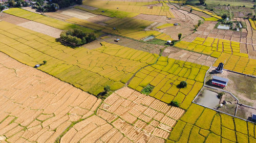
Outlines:
{"type": "Polygon", "coordinates": [[[0,51],[29,66],[47,61],[40,70],[94,95],[102,92],[105,85],[111,85],[112,90],[121,88],[136,71],[153,64],[158,57],[148,52],[141,55],[142,51],[119,45],[115,45],[122,49],[117,56],[73,49],[55,42],[55,38],[8,22],[1,21],[0,25],[0,51]]]}

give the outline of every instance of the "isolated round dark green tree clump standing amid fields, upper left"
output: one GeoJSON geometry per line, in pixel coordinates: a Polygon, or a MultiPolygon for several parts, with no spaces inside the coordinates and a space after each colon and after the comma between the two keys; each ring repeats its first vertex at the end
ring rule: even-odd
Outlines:
{"type": "Polygon", "coordinates": [[[84,33],[82,30],[75,28],[61,32],[59,41],[63,45],[75,47],[92,42],[95,39],[94,33],[84,33]]]}

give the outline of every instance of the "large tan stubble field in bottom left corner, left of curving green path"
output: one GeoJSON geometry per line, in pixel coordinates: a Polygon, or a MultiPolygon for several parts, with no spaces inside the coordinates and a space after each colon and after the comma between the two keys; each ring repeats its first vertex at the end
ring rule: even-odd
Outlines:
{"type": "Polygon", "coordinates": [[[8,142],[54,142],[72,122],[91,116],[101,103],[35,68],[0,53],[0,135],[8,142]]]}

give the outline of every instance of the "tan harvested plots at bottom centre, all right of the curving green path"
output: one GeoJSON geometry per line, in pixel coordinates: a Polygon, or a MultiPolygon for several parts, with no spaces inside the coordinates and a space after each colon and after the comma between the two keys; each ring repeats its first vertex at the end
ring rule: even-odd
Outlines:
{"type": "Polygon", "coordinates": [[[125,87],[104,100],[97,116],[71,128],[61,142],[161,143],[184,112],[125,87]]]}

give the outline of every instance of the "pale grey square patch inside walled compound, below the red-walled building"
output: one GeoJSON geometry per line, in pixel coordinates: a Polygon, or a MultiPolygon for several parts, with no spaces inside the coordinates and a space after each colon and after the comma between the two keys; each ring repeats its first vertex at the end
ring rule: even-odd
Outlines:
{"type": "Polygon", "coordinates": [[[210,90],[203,90],[202,96],[198,96],[197,103],[210,107],[216,108],[219,105],[220,99],[218,93],[210,90]]]}

